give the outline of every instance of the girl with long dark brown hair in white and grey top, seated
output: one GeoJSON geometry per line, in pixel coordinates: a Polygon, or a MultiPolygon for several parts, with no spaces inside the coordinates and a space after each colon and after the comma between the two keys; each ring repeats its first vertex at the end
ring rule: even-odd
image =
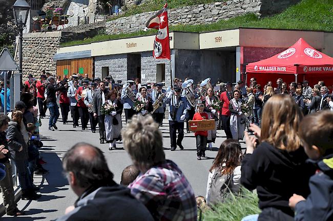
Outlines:
{"type": "Polygon", "coordinates": [[[223,202],[230,192],[238,194],[241,157],[242,150],[238,141],[232,139],[223,141],[208,175],[206,199],[209,206],[223,202]]]}

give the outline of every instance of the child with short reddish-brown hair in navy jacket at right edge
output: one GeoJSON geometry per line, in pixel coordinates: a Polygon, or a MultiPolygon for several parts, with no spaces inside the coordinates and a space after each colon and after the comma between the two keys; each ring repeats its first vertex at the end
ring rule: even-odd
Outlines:
{"type": "Polygon", "coordinates": [[[308,115],[299,128],[305,152],[319,171],[310,178],[306,200],[294,194],[289,206],[295,209],[295,220],[333,220],[333,113],[308,115]]]}

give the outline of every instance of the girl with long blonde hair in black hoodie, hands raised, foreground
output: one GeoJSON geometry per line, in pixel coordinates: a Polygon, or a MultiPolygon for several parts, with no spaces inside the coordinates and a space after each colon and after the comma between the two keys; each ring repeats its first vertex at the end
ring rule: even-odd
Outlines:
{"type": "Polygon", "coordinates": [[[303,114],[295,100],[287,95],[274,95],[263,109],[261,130],[251,124],[256,137],[245,132],[246,155],[242,161],[241,184],[257,189],[258,220],[294,220],[289,198],[295,193],[309,194],[308,181],[315,173],[305,163],[307,156],[301,147],[298,127],[303,114]]]}

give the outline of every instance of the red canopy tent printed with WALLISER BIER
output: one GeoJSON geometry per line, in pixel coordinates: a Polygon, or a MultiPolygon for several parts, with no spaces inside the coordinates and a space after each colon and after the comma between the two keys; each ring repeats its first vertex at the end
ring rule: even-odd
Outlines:
{"type": "Polygon", "coordinates": [[[311,47],[303,38],[280,54],[246,65],[246,81],[257,78],[260,84],[278,78],[290,83],[308,80],[313,86],[319,80],[333,83],[333,58],[311,47]]]}

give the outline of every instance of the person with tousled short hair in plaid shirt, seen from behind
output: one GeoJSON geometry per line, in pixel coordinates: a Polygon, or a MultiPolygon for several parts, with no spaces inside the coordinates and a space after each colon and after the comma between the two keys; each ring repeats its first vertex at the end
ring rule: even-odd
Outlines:
{"type": "Polygon", "coordinates": [[[151,116],[134,116],[122,132],[124,147],[141,171],[131,193],[155,220],[197,220],[194,191],[179,167],[165,160],[162,135],[151,116]]]}

